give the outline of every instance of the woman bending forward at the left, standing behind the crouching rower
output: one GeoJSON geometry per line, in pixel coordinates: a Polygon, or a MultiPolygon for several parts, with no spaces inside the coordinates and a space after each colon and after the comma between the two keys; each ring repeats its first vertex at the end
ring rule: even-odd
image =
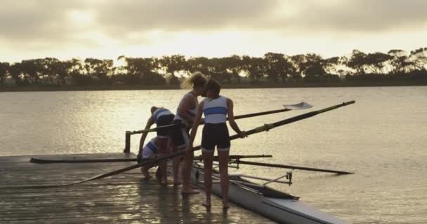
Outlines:
{"type": "MultiPolygon", "coordinates": [[[[151,108],[151,116],[147,120],[147,125],[145,125],[145,129],[149,129],[152,125],[156,124],[157,127],[161,127],[164,125],[171,125],[173,118],[175,116],[168,109],[164,109],[162,107],[152,106],[151,108]]],[[[144,141],[147,138],[147,132],[144,132],[140,139],[139,148],[140,151],[143,150],[144,141]]],[[[169,144],[169,129],[167,128],[159,128],[157,130],[157,150],[159,151],[159,156],[164,156],[170,153],[168,144],[169,144]]],[[[179,158],[173,160],[173,181],[175,185],[180,183],[178,179],[178,169],[179,169],[179,158]]],[[[167,161],[162,160],[159,162],[159,172],[162,175],[161,182],[164,184],[168,183],[167,180],[167,161]]]]}

